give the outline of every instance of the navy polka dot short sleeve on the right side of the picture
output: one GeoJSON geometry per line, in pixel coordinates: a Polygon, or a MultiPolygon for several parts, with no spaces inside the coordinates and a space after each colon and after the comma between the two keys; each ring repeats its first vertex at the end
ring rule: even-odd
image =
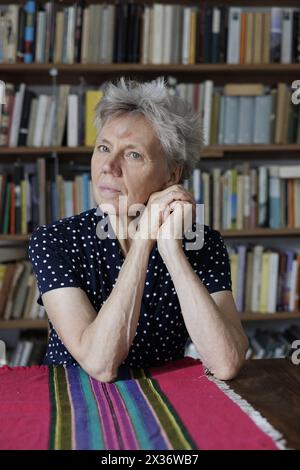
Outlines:
{"type": "Polygon", "coordinates": [[[205,226],[204,244],[193,253],[192,266],[210,294],[232,290],[229,255],[218,230],[205,226]]]}

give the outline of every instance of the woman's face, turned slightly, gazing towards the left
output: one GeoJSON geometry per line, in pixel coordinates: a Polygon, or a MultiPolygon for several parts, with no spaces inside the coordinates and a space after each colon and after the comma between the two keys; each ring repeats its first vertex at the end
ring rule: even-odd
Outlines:
{"type": "Polygon", "coordinates": [[[178,171],[170,173],[160,142],[142,115],[123,114],[106,121],[96,138],[91,172],[97,204],[105,203],[105,212],[116,214],[120,196],[127,196],[128,208],[146,205],[151,193],[178,181],[178,171]]]}

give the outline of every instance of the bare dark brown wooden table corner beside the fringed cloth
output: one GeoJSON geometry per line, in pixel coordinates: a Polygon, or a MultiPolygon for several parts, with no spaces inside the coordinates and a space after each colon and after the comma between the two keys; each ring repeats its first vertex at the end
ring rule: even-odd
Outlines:
{"type": "Polygon", "coordinates": [[[300,364],[288,358],[249,360],[227,383],[283,434],[288,448],[300,449],[300,364]]]}

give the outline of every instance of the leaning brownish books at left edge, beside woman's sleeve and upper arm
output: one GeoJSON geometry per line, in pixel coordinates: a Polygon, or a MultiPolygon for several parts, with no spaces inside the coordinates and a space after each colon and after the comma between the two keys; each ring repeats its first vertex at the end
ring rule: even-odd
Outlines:
{"type": "Polygon", "coordinates": [[[39,289],[30,261],[0,263],[0,320],[42,319],[39,289]]]}

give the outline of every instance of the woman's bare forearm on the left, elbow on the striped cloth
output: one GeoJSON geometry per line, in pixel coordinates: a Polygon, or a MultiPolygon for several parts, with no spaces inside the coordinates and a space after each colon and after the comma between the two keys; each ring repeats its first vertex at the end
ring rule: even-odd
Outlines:
{"type": "Polygon", "coordinates": [[[133,240],[110,296],[81,336],[86,369],[99,380],[115,378],[133,342],[150,252],[148,241],[133,240]]]}

